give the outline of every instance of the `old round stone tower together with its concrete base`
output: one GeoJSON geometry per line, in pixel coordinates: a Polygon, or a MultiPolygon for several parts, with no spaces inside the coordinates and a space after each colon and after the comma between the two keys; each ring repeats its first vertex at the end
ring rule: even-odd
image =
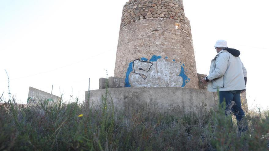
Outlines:
{"type": "Polygon", "coordinates": [[[85,102],[102,102],[108,81],[110,98],[121,108],[128,102],[215,106],[218,95],[199,82],[205,76],[196,71],[182,0],[130,0],[123,7],[114,77],[100,78],[99,90],[86,91],[85,102]]]}

